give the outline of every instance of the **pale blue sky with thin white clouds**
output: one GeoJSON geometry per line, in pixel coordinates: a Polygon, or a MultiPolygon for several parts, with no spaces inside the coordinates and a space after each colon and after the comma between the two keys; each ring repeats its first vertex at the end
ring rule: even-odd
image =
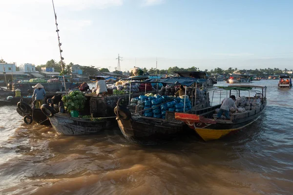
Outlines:
{"type": "MultiPolygon", "coordinates": [[[[63,58],[113,71],[293,69],[292,0],[54,0],[63,58]],[[109,68],[110,67],[110,68],[109,68]]],[[[0,0],[0,58],[60,60],[51,0],[0,0]]]]}

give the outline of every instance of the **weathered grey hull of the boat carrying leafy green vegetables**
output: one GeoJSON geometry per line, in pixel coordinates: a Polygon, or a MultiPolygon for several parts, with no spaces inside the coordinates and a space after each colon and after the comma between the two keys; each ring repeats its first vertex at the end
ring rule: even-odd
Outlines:
{"type": "Polygon", "coordinates": [[[115,118],[91,121],[89,119],[70,117],[69,114],[57,113],[50,117],[52,127],[58,134],[62,135],[83,135],[97,133],[101,130],[114,127],[115,118]]]}

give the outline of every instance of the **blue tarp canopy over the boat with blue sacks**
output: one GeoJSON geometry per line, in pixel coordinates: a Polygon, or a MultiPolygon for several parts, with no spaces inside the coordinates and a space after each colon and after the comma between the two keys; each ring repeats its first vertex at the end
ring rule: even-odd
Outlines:
{"type": "Polygon", "coordinates": [[[174,78],[161,78],[161,79],[149,78],[149,79],[146,79],[145,81],[134,81],[133,83],[165,83],[165,84],[174,84],[174,85],[181,84],[185,86],[191,86],[194,83],[202,83],[206,81],[207,79],[174,77],[174,78]]]}

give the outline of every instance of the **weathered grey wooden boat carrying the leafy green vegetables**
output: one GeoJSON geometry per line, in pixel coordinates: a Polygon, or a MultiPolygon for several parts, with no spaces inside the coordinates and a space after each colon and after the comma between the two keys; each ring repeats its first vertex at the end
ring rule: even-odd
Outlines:
{"type": "MultiPolygon", "coordinates": [[[[131,94],[131,97],[137,97],[142,94],[134,93],[131,94]]],[[[87,99],[81,115],[91,115],[92,118],[71,117],[67,113],[57,113],[48,117],[52,127],[58,134],[82,135],[97,133],[117,126],[114,107],[119,98],[124,99],[124,102],[128,102],[129,95],[97,97],[95,94],[86,94],[85,97],[87,99]]]]}

